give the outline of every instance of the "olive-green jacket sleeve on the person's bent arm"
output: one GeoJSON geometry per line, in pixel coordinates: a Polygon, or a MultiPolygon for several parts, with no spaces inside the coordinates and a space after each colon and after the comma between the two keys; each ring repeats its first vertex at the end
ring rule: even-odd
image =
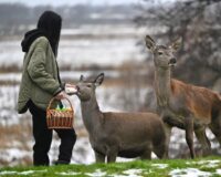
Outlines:
{"type": "Polygon", "coordinates": [[[49,92],[50,94],[55,95],[56,93],[61,92],[62,88],[60,86],[59,81],[56,81],[51,73],[46,72],[45,65],[46,62],[50,62],[46,59],[46,48],[48,48],[48,40],[40,39],[36,43],[35,49],[32,53],[28,65],[28,73],[31,80],[42,90],[49,92]]]}

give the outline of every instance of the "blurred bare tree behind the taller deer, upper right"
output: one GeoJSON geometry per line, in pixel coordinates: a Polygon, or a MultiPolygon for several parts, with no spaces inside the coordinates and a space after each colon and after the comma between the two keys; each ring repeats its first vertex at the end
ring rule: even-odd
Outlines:
{"type": "MultiPolygon", "coordinates": [[[[178,37],[183,39],[176,75],[213,87],[221,80],[221,1],[143,1],[138,7],[140,14],[135,19],[138,25],[145,25],[164,43],[178,37]]],[[[221,86],[219,90],[221,92],[221,86]]]]}

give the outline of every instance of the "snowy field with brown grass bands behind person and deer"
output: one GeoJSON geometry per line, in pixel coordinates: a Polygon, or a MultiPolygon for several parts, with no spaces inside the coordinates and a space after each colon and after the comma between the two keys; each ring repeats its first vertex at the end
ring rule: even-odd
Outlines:
{"type": "MultiPolygon", "coordinates": [[[[102,111],[146,111],[145,102],[155,105],[152,96],[151,64],[145,62],[146,54],[140,53],[136,43],[144,31],[134,27],[83,27],[64,30],[59,51],[59,65],[63,81],[76,83],[81,74],[85,76],[105,73],[104,84],[96,95],[102,111]],[[90,34],[90,35],[88,35],[90,34]]],[[[0,167],[29,166],[32,164],[32,123],[30,113],[17,113],[17,100],[21,80],[23,53],[20,49],[21,37],[0,41],[0,167]]],[[[81,106],[76,96],[70,97],[75,108],[75,129],[77,134],[72,164],[92,164],[94,154],[82,122],[81,106]]],[[[214,154],[220,154],[218,143],[211,132],[207,132],[212,142],[214,154]]],[[[196,149],[200,155],[199,145],[196,149]]],[[[60,139],[54,135],[50,159],[57,157],[60,139]]],[[[189,157],[185,132],[172,129],[170,157],[189,157]]],[[[152,155],[154,156],[154,155],[152,155]]],[[[117,162],[126,159],[118,158],[117,162]]],[[[92,166],[93,167],[93,166],[92,166]]]]}

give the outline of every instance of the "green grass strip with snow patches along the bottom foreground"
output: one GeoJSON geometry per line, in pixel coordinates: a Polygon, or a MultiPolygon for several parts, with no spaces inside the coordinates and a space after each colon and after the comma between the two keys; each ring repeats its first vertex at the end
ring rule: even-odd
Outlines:
{"type": "Polygon", "coordinates": [[[116,164],[1,168],[0,177],[219,177],[221,158],[134,160],[116,164]]]}

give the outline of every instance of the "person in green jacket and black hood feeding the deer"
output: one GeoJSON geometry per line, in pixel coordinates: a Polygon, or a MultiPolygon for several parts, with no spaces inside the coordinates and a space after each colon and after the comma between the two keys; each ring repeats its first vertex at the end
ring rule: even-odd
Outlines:
{"type": "MultiPolygon", "coordinates": [[[[34,165],[50,165],[48,153],[52,143],[52,129],[46,126],[46,107],[52,97],[62,100],[66,96],[56,62],[61,28],[62,18],[53,11],[45,11],[41,14],[36,29],[27,32],[21,43],[25,54],[18,112],[22,114],[29,110],[32,114],[34,165]]],[[[70,164],[76,142],[75,131],[55,132],[61,138],[55,164],[70,164]]]]}

